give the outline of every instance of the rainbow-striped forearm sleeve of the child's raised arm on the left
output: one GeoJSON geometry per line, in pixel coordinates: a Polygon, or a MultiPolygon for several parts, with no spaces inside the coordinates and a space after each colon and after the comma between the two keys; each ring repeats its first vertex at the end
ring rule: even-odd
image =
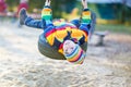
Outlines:
{"type": "Polygon", "coordinates": [[[41,10],[41,20],[45,20],[45,21],[52,20],[52,12],[51,12],[50,7],[48,5],[44,7],[44,9],[41,10]]]}

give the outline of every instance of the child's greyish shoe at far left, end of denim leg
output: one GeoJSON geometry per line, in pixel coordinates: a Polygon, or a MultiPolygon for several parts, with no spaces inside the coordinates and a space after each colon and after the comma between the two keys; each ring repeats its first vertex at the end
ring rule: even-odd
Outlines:
{"type": "Polygon", "coordinates": [[[20,15],[20,25],[24,25],[25,18],[27,17],[26,10],[24,8],[21,9],[19,15],[20,15]]]}

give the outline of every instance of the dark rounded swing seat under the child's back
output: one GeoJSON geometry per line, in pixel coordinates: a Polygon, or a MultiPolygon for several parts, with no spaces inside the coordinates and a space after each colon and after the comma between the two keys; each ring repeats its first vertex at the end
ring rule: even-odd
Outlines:
{"type": "MultiPolygon", "coordinates": [[[[87,42],[83,44],[81,48],[86,51],[87,42]]],[[[64,55],[59,53],[57,48],[51,47],[45,39],[44,34],[39,36],[38,39],[38,50],[41,54],[56,60],[66,60],[64,55]]]]}

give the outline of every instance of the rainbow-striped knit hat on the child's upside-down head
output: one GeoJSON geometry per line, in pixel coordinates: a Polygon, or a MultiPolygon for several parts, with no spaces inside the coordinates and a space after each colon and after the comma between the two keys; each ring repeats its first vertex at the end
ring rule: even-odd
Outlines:
{"type": "Polygon", "coordinates": [[[64,53],[64,57],[69,62],[82,64],[85,59],[85,52],[76,45],[75,49],[70,54],[64,53]]]}

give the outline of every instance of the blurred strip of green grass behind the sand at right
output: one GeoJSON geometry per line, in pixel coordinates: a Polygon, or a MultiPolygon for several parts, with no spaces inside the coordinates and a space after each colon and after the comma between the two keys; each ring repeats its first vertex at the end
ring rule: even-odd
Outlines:
{"type": "Polygon", "coordinates": [[[112,33],[121,33],[121,34],[129,34],[131,35],[131,26],[126,26],[126,25],[112,25],[112,24],[105,24],[105,25],[100,25],[97,24],[96,25],[96,30],[109,30],[112,33]]]}

